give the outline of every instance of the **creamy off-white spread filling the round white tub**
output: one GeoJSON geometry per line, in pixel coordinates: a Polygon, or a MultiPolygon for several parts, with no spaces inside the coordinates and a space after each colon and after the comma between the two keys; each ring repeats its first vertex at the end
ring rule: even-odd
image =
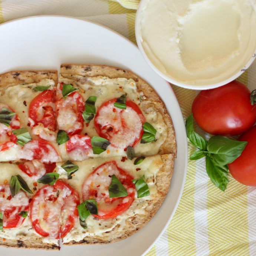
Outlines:
{"type": "Polygon", "coordinates": [[[144,1],[141,45],[164,75],[210,85],[235,75],[256,48],[256,4],[251,0],[144,1]]]}

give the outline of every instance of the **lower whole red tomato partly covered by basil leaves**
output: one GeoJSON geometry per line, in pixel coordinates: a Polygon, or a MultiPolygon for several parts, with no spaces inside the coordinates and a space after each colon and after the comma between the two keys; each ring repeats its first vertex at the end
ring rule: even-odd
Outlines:
{"type": "Polygon", "coordinates": [[[256,186],[256,125],[242,134],[239,141],[248,141],[240,157],[228,164],[231,175],[240,183],[256,186]]]}

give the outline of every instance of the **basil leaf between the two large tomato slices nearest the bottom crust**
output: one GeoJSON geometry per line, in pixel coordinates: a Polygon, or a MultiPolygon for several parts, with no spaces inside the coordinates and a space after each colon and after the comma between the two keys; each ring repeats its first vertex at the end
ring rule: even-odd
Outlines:
{"type": "Polygon", "coordinates": [[[97,203],[94,199],[88,199],[83,201],[83,203],[77,206],[80,225],[83,229],[87,228],[85,220],[89,217],[90,214],[98,214],[97,203]]]}

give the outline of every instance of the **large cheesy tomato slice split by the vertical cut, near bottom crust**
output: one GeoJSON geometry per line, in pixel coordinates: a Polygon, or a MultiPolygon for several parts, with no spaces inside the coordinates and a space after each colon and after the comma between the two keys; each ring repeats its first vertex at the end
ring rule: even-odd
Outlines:
{"type": "Polygon", "coordinates": [[[41,236],[63,238],[78,220],[79,203],[78,192],[62,181],[40,188],[30,203],[33,228],[41,236]]]}

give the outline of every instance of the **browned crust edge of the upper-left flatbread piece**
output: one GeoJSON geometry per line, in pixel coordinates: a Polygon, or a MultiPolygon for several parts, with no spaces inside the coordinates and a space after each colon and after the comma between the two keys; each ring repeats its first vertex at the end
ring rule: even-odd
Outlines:
{"type": "Polygon", "coordinates": [[[42,79],[53,79],[55,85],[58,81],[57,70],[17,70],[0,75],[0,88],[18,84],[39,83],[42,79]]]}

